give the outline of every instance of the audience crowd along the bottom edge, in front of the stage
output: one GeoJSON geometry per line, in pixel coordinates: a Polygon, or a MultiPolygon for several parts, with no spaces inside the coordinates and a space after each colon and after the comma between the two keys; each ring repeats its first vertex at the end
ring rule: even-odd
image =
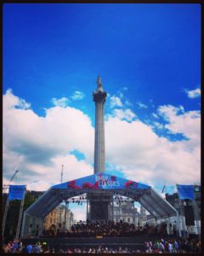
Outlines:
{"type": "Polygon", "coordinates": [[[24,245],[22,241],[9,241],[3,245],[3,253],[201,253],[201,241],[196,239],[161,239],[145,241],[144,248],[136,247],[49,247],[46,241],[37,242],[35,245],[24,245]]]}

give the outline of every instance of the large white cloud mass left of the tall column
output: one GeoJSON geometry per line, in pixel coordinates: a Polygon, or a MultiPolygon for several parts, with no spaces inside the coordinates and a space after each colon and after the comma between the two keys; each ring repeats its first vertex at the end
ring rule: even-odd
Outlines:
{"type": "Polygon", "coordinates": [[[33,183],[37,190],[48,189],[60,177],[60,166],[67,166],[66,179],[93,173],[94,128],[91,120],[76,108],[54,107],[39,117],[21,107],[21,99],[10,91],[3,96],[3,179],[19,170],[15,182],[33,183]],[[78,150],[85,160],[70,154],[78,150]]]}

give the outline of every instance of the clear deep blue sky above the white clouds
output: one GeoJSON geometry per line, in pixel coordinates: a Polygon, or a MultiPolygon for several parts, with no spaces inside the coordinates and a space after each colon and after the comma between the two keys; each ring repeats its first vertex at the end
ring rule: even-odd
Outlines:
{"type": "Polygon", "coordinates": [[[98,73],[110,94],[127,86],[131,102],[194,108],[182,88],[201,84],[201,6],[4,4],[3,91],[43,114],[80,88],[93,109],[98,73]]]}

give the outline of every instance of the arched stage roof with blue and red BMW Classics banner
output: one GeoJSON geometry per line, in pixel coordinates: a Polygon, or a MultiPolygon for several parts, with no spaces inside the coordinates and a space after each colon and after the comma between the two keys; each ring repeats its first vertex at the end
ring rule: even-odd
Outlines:
{"type": "Polygon", "coordinates": [[[131,198],[133,201],[139,201],[155,218],[172,216],[177,213],[177,211],[150,186],[136,183],[122,177],[112,176],[107,173],[94,174],[67,183],[54,185],[34,202],[31,207],[26,210],[26,213],[33,217],[45,218],[60,202],[85,193],[94,195],[96,191],[107,191],[109,195],[110,193],[113,196],[124,195],[131,198]]]}

